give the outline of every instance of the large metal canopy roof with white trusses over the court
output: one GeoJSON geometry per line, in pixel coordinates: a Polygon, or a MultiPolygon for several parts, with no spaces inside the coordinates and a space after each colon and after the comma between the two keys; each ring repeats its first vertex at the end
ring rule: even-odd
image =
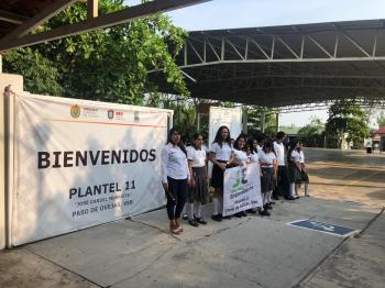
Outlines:
{"type": "Polygon", "coordinates": [[[271,108],[343,98],[384,104],[385,20],[195,31],[177,63],[196,98],[271,108]]]}

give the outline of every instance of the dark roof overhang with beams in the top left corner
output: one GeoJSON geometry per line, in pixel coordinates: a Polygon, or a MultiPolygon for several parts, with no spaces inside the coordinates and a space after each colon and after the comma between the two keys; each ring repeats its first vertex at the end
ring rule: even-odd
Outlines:
{"type": "Polygon", "coordinates": [[[210,0],[153,0],[99,15],[98,0],[1,0],[0,52],[122,24],[158,12],[206,1],[210,0]],[[88,15],[86,20],[33,33],[40,25],[76,2],[87,3],[88,15]]]}

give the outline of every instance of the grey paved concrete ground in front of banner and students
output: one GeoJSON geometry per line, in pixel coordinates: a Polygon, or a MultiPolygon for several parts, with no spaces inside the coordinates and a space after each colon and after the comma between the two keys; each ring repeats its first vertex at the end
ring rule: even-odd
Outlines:
{"type": "MultiPolygon", "coordinates": [[[[167,233],[166,212],[0,254],[0,287],[383,287],[385,155],[309,149],[311,198],[167,233]],[[343,239],[294,228],[314,219],[360,230],[343,239]]],[[[210,207],[205,207],[209,218],[210,207]]]]}

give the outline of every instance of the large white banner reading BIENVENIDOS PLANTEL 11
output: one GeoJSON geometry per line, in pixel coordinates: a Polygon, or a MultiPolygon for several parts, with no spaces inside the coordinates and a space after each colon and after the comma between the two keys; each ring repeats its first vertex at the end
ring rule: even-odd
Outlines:
{"type": "Polygon", "coordinates": [[[162,207],[161,151],[170,113],[18,96],[12,244],[162,207]]]}

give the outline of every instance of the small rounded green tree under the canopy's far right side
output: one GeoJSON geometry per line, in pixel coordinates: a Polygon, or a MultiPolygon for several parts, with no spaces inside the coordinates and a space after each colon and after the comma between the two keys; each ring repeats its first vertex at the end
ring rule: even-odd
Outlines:
{"type": "Polygon", "coordinates": [[[346,133],[346,141],[352,141],[354,146],[359,147],[370,133],[365,112],[352,100],[338,100],[329,109],[326,132],[338,146],[341,145],[341,140],[346,133]]]}

